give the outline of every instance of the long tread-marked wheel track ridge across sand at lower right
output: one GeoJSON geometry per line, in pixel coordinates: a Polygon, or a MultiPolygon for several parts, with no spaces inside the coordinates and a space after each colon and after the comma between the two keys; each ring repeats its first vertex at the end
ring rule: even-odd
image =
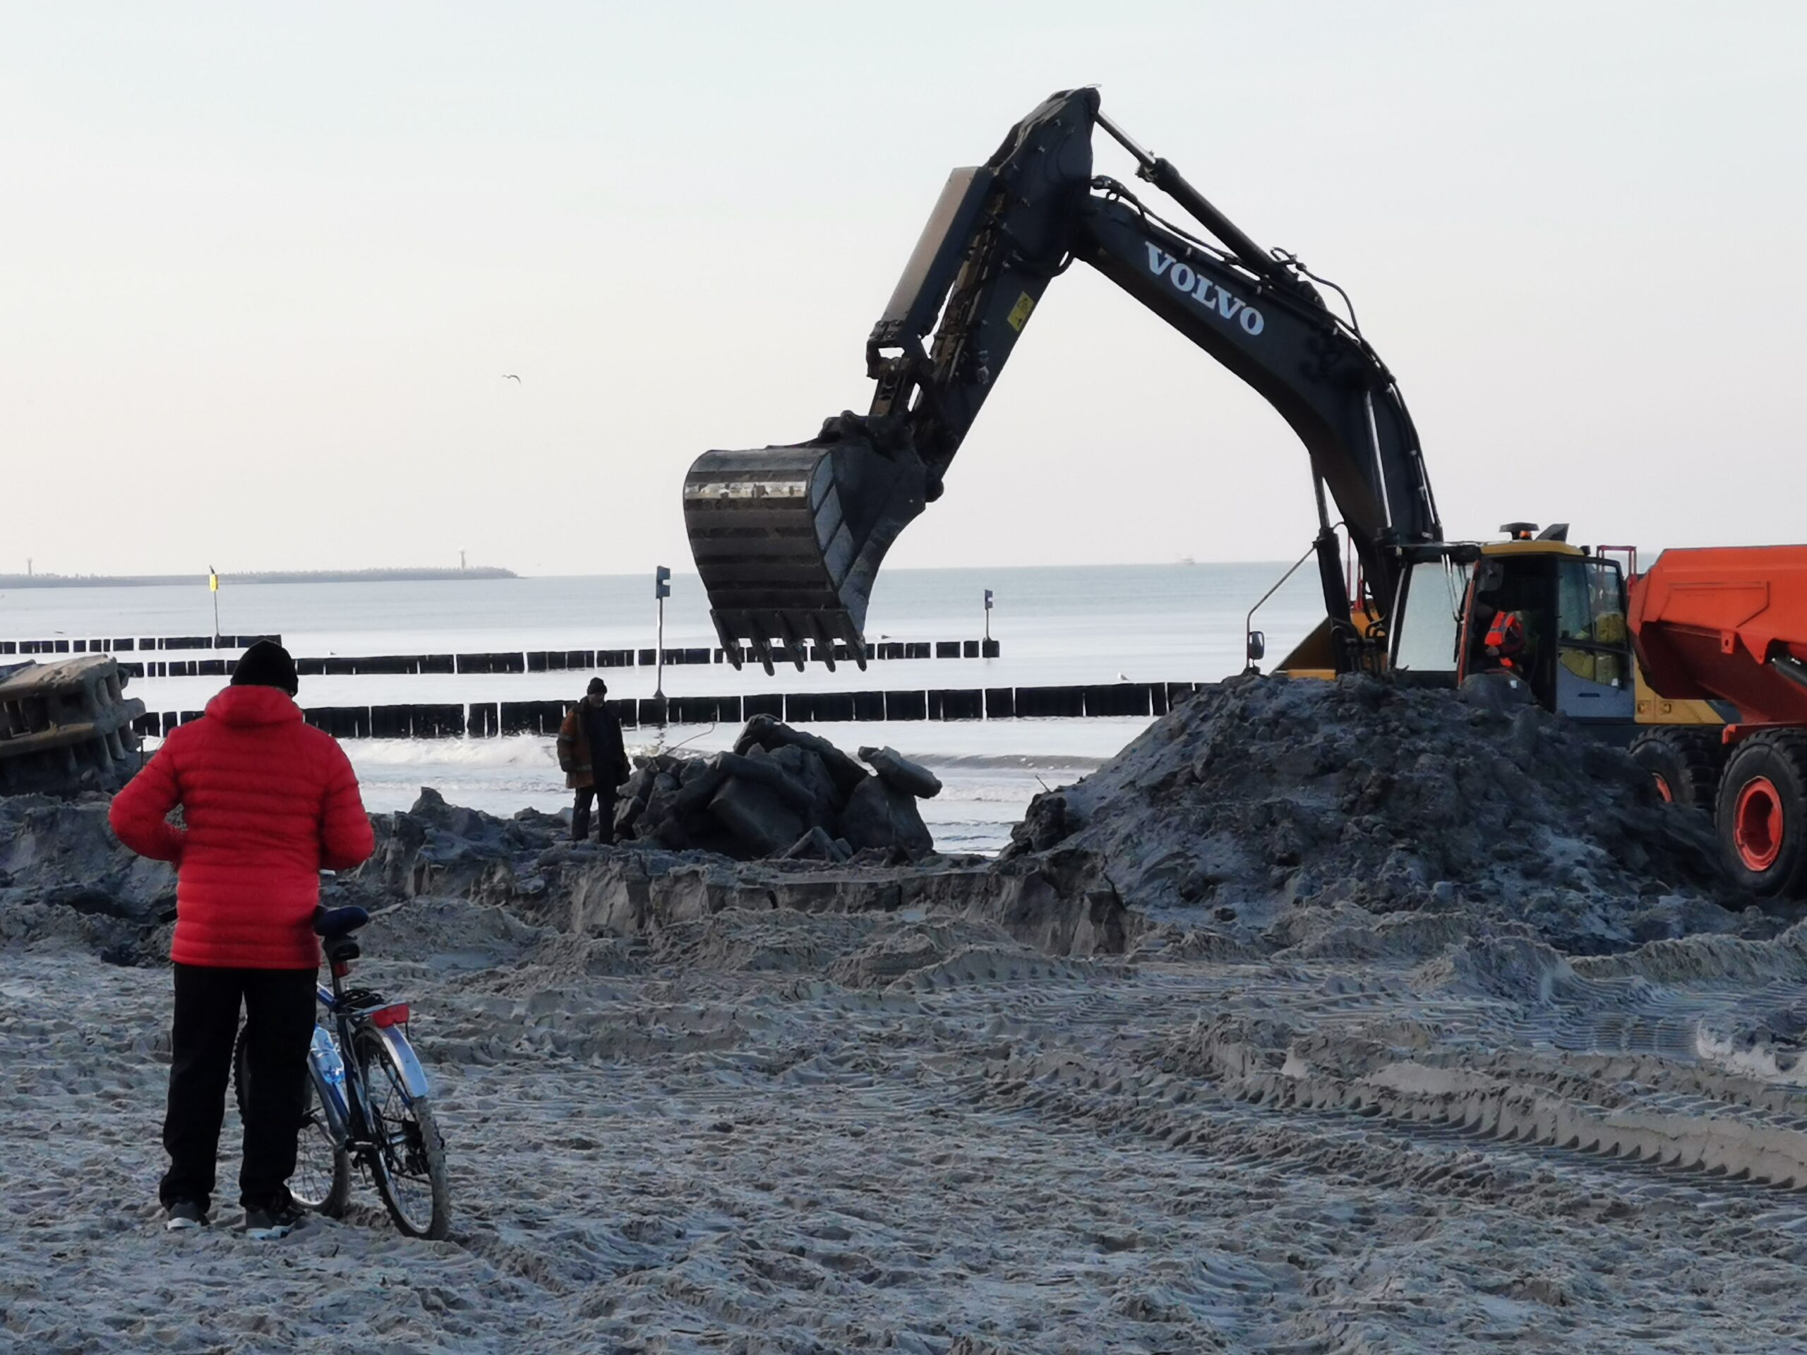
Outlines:
{"type": "MultiPolygon", "coordinates": [[[[1646,1032],[1648,1033],[1648,1032],[1646,1032]]],[[[983,1079],[985,1100],[1135,1131],[1169,1149],[1223,1149],[1243,1115],[1388,1126],[1399,1142],[1496,1144],[1648,1173],[1699,1189],[1807,1191],[1807,1117],[1798,1088],[1657,1053],[1362,1048],[1326,1033],[1315,1057],[1241,1039],[1236,1023],[1169,1037],[1142,1059],[1099,1061],[1052,1042],[1012,1051],[983,1079]],[[1339,1048],[1346,1046],[1346,1048],[1339,1048]],[[1149,1057],[1153,1055],[1153,1057],[1149,1057]]],[[[1306,1138],[1310,1138],[1310,1133],[1306,1138]]],[[[1447,1171],[1447,1167],[1446,1167],[1447,1171]]]]}

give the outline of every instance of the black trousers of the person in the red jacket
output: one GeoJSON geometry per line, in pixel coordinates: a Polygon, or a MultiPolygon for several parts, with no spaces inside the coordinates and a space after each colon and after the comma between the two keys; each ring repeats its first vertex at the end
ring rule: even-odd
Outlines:
{"type": "Polygon", "coordinates": [[[260,1209],[287,1198],[295,1140],[307,1106],[307,1050],[314,1035],[311,968],[204,968],[175,965],[170,1030],[170,1109],[163,1147],[170,1171],[157,1189],[164,1205],[213,1196],[226,1082],[244,1005],[248,1059],[244,1165],[239,1203],[260,1209]]]}

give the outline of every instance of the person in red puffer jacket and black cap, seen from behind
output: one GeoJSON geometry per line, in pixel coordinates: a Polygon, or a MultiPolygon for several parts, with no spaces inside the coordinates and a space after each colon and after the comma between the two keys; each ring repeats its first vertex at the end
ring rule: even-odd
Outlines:
{"type": "Polygon", "coordinates": [[[282,1238],[307,1106],[320,941],[320,871],[372,851],[358,777],[332,735],[295,705],[295,659],[258,641],[202,719],[172,730],[108,820],[141,856],[175,862],[175,1019],[159,1185],[166,1227],[208,1220],[239,1008],[249,1061],[239,1201],[246,1232],[282,1238]],[[168,822],[183,808],[183,826],[168,822]]]}

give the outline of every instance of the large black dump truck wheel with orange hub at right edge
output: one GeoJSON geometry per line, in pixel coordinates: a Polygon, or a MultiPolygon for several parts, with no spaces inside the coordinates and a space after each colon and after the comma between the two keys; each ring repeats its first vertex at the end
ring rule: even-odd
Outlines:
{"type": "Polygon", "coordinates": [[[1758,898],[1807,898],[1807,734],[1746,739],[1718,784],[1718,846],[1758,898]]]}

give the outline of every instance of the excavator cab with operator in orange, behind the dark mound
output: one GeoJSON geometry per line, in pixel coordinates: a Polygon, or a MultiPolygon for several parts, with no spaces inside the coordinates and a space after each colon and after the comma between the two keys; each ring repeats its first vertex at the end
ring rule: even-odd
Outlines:
{"type": "Polygon", "coordinates": [[[1532,524],[1509,522],[1503,531],[1507,540],[1482,546],[1469,571],[1456,681],[1505,672],[1545,710],[1630,735],[1635,659],[1619,562],[1570,546],[1565,528],[1534,535],[1532,524]]]}

